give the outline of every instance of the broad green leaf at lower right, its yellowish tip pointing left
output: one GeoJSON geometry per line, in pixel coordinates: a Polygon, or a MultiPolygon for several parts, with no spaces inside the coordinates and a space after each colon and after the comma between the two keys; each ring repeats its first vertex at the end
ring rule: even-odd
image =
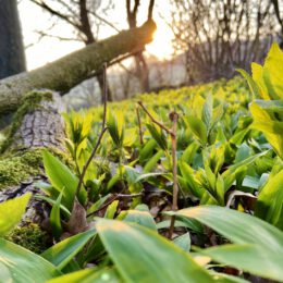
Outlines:
{"type": "Polygon", "coordinates": [[[170,214],[196,219],[236,244],[256,244],[275,254],[283,250],[283,233],[280,230],[243,212],[218,206],[202,206],[170,214]]]}

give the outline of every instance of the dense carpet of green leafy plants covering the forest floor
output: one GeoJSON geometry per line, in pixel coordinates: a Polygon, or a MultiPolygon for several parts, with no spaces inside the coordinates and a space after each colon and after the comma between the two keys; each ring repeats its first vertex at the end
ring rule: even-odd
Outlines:
{"type": "Polygon", "coordinates": [[[0,204],[0,281],[282,281],[282,51],[251,69],[65,114],[72,165],[45,150],[37,184],[54,244],[7,238],[30,195],[0,204]]]}

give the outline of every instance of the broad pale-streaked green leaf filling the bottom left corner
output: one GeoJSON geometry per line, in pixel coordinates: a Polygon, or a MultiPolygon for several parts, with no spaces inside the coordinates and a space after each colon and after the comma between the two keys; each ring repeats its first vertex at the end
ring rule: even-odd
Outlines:
{"type": "Polygon", "coordinates": [[[0,264],[9,270],[13,283],[45,283],[62,274],[46,259],[3,238],[0,238],[0,264]]]}

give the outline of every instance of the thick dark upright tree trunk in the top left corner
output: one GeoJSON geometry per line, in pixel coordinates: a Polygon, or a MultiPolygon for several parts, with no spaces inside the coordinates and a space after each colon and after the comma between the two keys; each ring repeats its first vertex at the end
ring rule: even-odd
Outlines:
{"type": "Polygon", "coordinates": [[[25,71],[16,0],[0,0],[0,78],[25,71]]]}

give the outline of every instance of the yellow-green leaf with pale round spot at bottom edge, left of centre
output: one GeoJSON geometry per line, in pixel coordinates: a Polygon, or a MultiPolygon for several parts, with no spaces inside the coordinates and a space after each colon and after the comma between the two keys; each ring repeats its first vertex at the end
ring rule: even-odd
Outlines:
{"type": "Polygon", "coordinates": [[[77,272],[65,274],[47,283],[123,283],[120,275],[114,269],[84,269],[77,272]]]}

